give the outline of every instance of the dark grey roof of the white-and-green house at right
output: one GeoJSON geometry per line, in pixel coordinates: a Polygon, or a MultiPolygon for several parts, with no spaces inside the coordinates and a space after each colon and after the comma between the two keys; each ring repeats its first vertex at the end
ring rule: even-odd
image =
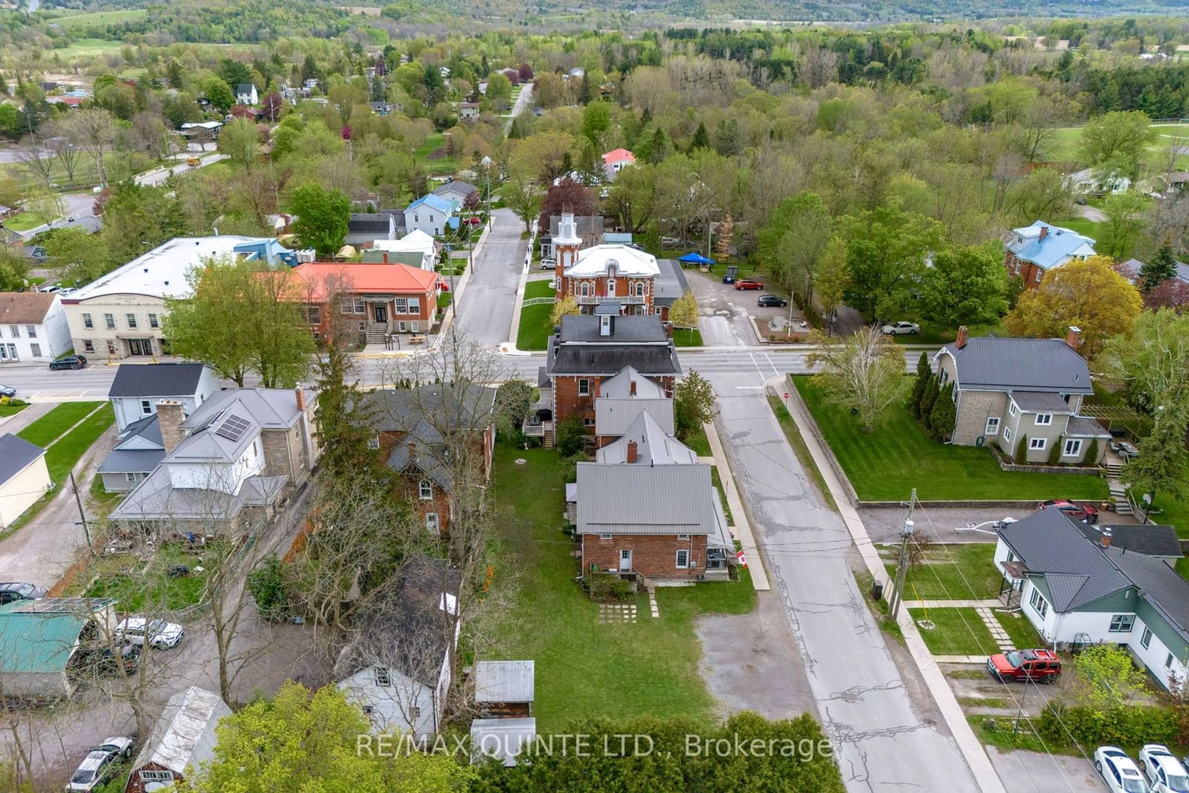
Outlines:
{"type": "Polygon", "coordinates": [[[1088,542],[1061,510],[1037,510],[996,531],[1030,574],[1045,577],[1052,606],[1058,613],[1131,585],[1102,554],[1101,547],[1088,542]]]}

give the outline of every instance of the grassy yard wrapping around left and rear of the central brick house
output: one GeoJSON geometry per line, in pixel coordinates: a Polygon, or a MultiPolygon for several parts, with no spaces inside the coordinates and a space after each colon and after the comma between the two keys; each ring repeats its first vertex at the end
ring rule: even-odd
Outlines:
{"type": "Polygon", "coordinates": [[[738,583],[659,590],[658,619],[640,598],[636,623],[600,624],[598,608],[574,583],[574,545],[561,531],[565,466],[556,452],[501,445],[495,471],[502,567],[520,577],[516,604],[499,627],[509,640],[502,650],[504,657],[536,662],[539,729],[555,731],[593,717],[709,722],[713,700],[698,674],[702,648],[693,619],[750,611],[756,596],[746,571],[738,583]]]}

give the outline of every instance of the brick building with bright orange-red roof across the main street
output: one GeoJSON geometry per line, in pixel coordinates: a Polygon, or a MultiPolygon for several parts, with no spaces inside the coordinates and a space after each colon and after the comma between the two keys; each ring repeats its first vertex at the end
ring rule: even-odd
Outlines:
{"type": "Polygon", "coordinates": [[[370,344],[391,334],[426,333],[433,325],[441,278],[432,270],[398,263],[308,262],[291,272],[296,278],[289,297],[302,303],[310,332],[321,340],[334,332],[335,320],[370,344]],[[332,300],[335,306],[328,304],[332,300]]]}

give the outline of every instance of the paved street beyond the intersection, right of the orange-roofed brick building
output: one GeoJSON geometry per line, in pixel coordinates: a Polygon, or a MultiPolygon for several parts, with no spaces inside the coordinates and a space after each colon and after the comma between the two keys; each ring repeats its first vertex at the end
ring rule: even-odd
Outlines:
{"type": "Polygon", "coordinates": [[[508,341],[516,304],[516,284],[524,266],[523,221],[511,209],[493,209],[487,241],[458,302],[459,331],[490,346],[508,341]]]}

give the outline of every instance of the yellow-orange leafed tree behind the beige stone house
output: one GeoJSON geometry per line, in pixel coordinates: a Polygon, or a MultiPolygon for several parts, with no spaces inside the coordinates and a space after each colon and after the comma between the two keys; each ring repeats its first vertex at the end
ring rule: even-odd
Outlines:
{"type": "Polygon", "coordinates": [[[1144,306],[1139,290],[1111,265],[1109,257],[1095,256],[1049,270],[1004,320],[1007,332],[1052,339],[1076,326],[1082,331],[1081,353],[1093,358],[1107,338],[1131,331],[1144,306]]]}

